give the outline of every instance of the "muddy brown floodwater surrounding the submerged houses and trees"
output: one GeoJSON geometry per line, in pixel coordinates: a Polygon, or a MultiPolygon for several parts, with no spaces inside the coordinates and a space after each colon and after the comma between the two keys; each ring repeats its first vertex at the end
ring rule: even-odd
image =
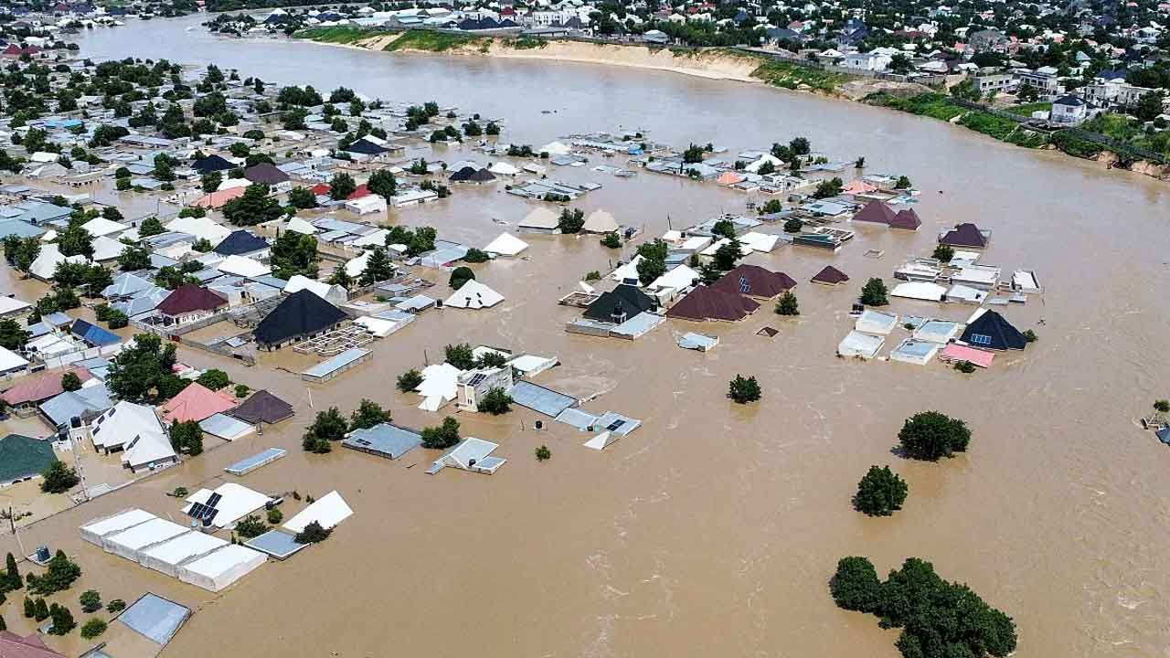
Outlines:
{"type": "MultiPolygon", "coordinates": [[[[198,608],[166,656],[896,656],[895,631],[834,608],[826,582],[845,555],[868,555],[879,570],[907,556],[932,561],[1016,618],[1021,657],[1166,654],[1170,452],[1134,424],[1155,397],[1170,393],[1165,184],[940,122],[763,87],[583,64],[221,41],[185,32],[197,22],[96,30],[82,39],[82,52],[95,60],[215,62],[269,82],[346,84],[395,101],[435,98],[504,116],[503,138],[517,143],[619,124],[647,129],[655,140],[710,140],[732,151],[804,135],[834,157],[863,155],[870,171],[908,174],[923,190],[917,211],[925,224],[917,234],[860,229],[835,255],[782,247],[749,258],[800,282],[799,320],[765,306],[734,325],[670,321],[633,343],[569,335],[563,324],[576,314],[556,299],[583,273],[606,270],[615,254],[587,237],[525,237],[528,259],[476,266],[480,280],[508,297],[503,304],[429,311],[332,383],[310,389],[273,368],[295,372],[310,363],[291,352],[248,369],[184,351],[188,363],[225,368],[284,396],[297,416],[20,535],[26,547],[49,543],[76,555],[85,570],[76,591],[132,599],[151,590],[198,608]],[[834,358],[860,285],[889,279],[909,255],[929,254],[935,233],[963,220],[994,232],[984,262],[1038,272],[1042,300],[1005,313],[1040,341],[972,376],[937,363],[834,358]],[[886,254],[868,259],[867,248],[886,254]],[[828,262],[852,276],[849,286],[807,282],[828,262]],[[779,335],[756,336],[765,325],[779,335]],[[707,355],[680,350],[674,338],[687,330],[722,342],[707,355]],[[464,436],[498,441],[497,454],[509,459],[491,477],[426,475],[434,455],[421,450],[397,462],[340,448],[300,451],[314,410],[347,412],[364,396],[405,425],[436,424],[441,416],[417,410],[393,378],[456,341],[556,355],[563,365],[538,383],[599,395],[585,406],[644,425],[596,453],[579,445],[587,436],[564,426],[534,430],[537,417],[526,411],[462,413],[464,436]],[[759,378],[760,403],[725,399],[736,373],[759,378]],[[902,420],[927,409],[968,420],[969,453],[941,464],[892,453],[902,420]],[[543,464],[532,458],[541,444],[552,450],[543,464]],[[77,537],[84,521],[130,506],[178,518],[165,492],[214,486],[225,465],[274,445],[289,455],[243,484],[318,496],[336,488],[355,516],[324,544],[269,563],[222,596],[77,537]],[[849,506],[872,464],[890,464],[909,482],[906,508],[893,518],[868,519],[849,506]]],[[[737,193],[646,172],[628,180],[555,173],[603,183],[579,206],[606,208],[622,224],[645,225],[648,235],[661,233],[668,217],[680,227],[744,204],[737,193]]],[[[497,185],[456,190],[443,204],[392,219],[482,245],[502,229],[493,219],[515,222],[530,207],[497,185]]],[[[949,318],[971,310],[906,301],[892,308],[949,318]]],[[[290,501],[285,515],[298,505],[290,501]]],[[[7,535],[0,541],[14,543],[7,535]]],[[[26,631],[12,605],[9,626],[26,631]]],[[[62,646],[81,647],[76,635],[62,646]]]]}

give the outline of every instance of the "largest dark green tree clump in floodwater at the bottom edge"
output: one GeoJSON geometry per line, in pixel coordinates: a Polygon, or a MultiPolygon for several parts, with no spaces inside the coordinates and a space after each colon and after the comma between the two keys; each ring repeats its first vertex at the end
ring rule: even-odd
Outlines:
{"type": "Polygon", "coordinates": [[[872,612],[882,628],[900,628],[904,658],[1002,658],[1016,650],[1016,623],[971,588],[942,580],[930,562],[910,557],[878,580],[865,557],[842,557],[830,581],[838,606],[872,612]]]}

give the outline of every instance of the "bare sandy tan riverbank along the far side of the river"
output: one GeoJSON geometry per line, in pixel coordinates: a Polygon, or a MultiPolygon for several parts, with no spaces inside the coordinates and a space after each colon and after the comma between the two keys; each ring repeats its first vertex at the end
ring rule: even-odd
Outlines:
{"type": "MultiPolygon", "coordinates": [[[[801,91],[814,94],[825,98],[846,101],[868,105],[873,108],[885,108],[889,110],[907,112],[900,108],[867,102],[867,98],[875,94],[899,95],[899,94],[927,94],[931,90],[915,83],[901,83],[882,81],[876,78],[847,78],[845,75],[830,74],[825,76],[823,71],[815,69],[804,69],[810,75],[817,74],[830,78],[826,81],[811,81],[817,85],[801,83],[801,75],[793,73],[800,70],[796,64],[773,63],[764,56],[752,56],[746,53],[736,53],[724,49],[711,49],[696,52],[694,54],[677,55],[675,52],[661,48],[652,49],[646,46],[614,44],[614,43],[590,43],[581,41],[544,41],[536,47],[517,48],[509,40],[495,36],[467,36],[466,41],[446,47],[419,48],[407,44],[406,47],[391,48],[410,32],[398,34],[381,34],[367,37],[355,39],[350,42],[336,42],[319,40],[312,36],[294,37],[296,41],[305,41],[318,46],[335,46],[356,50],[404,53],[412,55],[445,55],[445,56],[488,56],[501,60],[529,60],[570,62],[594,66],[613,66],[622,68],[635,68],[644,70],[656,70],[674,73],[706,80],[721,80],[746,84],[760,84],[765,87],[777,87],[790,91],[801,91]],[[693,62],[687,62],[691,60],[693,62]],[[690,66],[688,66],[690,64],[690,66]],[[779,75],[773,75],[770,68],[778,68],[779,75]],[[831,84],[832,87],[826,87],[831,84]]],[[[968,114],[975,110],[968,110],[968,114]]],[[[934,117],[928,117],[934,118],[934,117]]],[[[1120,169],[1135,174],[1155,178],[1157,180],[1170,180],[1170,164],[1158,164],[1143,159],[1126,160],[1110,148],[1102,148],[1090,157],[1079,156],[1061,149],[1052,142],[1042,146],[1027,146],[1014,144],[1007,139],[999,139],[980,130],[975,130],[968,125],[955,121],[948,121],[951,125],[963,128],[968,131],[978,132],[1002,144],[1011,144],[1034,150],[1054,150],[1066,157],[1093,163],[1101,169],[1120,169]]]]}

